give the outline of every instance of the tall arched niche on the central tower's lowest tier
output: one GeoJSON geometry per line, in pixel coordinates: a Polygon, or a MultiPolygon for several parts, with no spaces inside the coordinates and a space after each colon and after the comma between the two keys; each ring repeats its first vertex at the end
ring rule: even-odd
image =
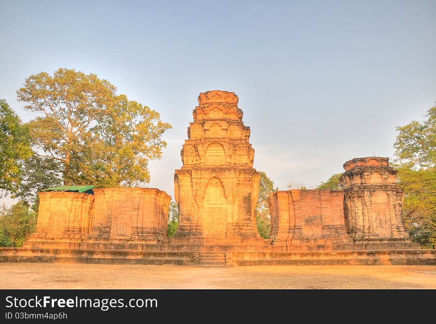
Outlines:
{"type": "Polygon", "coordinates": [[[209,180],[203,200],[203,236],[225,237],[227,228],[227,199],[217,178],[209,180]]]}

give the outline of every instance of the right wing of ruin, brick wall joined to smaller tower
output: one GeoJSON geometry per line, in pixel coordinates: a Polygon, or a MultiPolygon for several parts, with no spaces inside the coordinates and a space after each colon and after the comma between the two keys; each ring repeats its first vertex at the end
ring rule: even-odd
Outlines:
{"type": "Polygon", "coordinates": [[[270,195],[274,244],[305,249],[323,243],[332,250],[410,249],[401,216],[403,191],[388,158],[344,163],[344,190],[287,190],[270,195]]]}

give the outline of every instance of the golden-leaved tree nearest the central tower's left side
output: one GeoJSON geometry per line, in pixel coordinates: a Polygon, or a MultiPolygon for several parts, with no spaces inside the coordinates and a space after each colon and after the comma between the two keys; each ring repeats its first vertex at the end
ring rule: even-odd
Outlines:
{"type": "Polygon", "coordinates": [[[116,96],[86,138],[88,159],[79,164],[81,182],[102,187],[148,183],[148,163],[162,156],[162,134],[169,128],[158,112],[116,96]]]}

